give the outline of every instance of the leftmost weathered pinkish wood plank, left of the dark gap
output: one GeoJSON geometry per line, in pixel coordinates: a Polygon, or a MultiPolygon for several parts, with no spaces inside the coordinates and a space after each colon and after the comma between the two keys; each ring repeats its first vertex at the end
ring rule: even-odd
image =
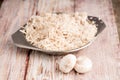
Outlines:
{"type": "Polygon", "coordinates": [[[5,0],[0,9],[0,80],[23,80],[28,50],[13,45],[11,35],[34,14],[33,0],[5,0]]]}

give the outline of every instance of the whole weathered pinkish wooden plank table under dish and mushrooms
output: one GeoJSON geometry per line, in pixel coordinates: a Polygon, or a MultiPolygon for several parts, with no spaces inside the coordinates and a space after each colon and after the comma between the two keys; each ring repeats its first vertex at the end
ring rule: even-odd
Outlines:
{"type": "Polygon", "coordinates": [[[0,9],[0,80],[120,80],[120,46],[111,0],[4,0],[0,9]],[[76,11],[100,17],[107,25],[91,46],[75,53],[93,61],[91,72],[63,74],[58,69],[62,56],[13,44],[11,35],[31,15],[76,11]]]}

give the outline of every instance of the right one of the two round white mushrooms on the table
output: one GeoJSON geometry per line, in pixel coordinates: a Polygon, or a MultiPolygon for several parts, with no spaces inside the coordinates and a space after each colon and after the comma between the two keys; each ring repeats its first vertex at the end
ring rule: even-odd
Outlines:
{"type": "Polygon", "coordinates": [[[78,73],[86,73],[92,69],[92,61],[86,56],[79,56],[77,58],[74,69],[78,73]]]}

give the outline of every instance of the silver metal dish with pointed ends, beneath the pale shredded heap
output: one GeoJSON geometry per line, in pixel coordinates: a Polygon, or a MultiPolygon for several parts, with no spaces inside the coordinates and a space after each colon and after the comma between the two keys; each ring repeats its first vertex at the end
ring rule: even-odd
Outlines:
{"type": "MultiPolygon", "coordinates": [[[[97,17],[88,16],[88,20],[94,21],[94,23],[96,24],[96,27],[97,27],[97,33],[95,35],[95,38],[96,38],[98,36],[98,34],[100,34],[104,30],[104,28],[106,27],[106,25],[105,25],[105,23],[101,19],[99,19],[97,17]]],[[[12,34],[13,42],[14,42],[14,44],[17,47],[26,48],[26,49],[32,49],[32,50],[37,50],[37,51],[44,52],[46,54],[62,55],[62,54],[67,54],[67,53],[74,53],[74,52],[77,52],[77,51],[79,51],[81,49],[86,48],[87,46],[89,46],[90,44],[92,44],[92,42],[95,40],[95,38],[94,38],[92,41],[90,41],[86,45],[84,45],[82,47],[79,47],[79,48],[76,48],[76,49],[68,50],[68,51],[43,50],[43,49],[37,48],[37,47],[31,45],[30,43],[28,43],[26,41],[26,39],[25,39],[25,35],[22,32],[20,32],[20,29],[18,31],[16,31],[14,34],[12,34]]]]}

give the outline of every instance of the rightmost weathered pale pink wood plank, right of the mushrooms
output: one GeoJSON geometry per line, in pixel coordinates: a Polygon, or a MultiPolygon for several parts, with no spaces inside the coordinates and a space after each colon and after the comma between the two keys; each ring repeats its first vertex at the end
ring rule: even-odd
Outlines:
{"type": "Polygon", "coordinates": [[[88,55],[94,63],[93,70],[82,79],[119,80],[119,38],[111,0],[76,0],[75,5],[75,11],[85,11],[89,15],[98,16],[107,26],[90,47],[77,54],[88,55]]]}

